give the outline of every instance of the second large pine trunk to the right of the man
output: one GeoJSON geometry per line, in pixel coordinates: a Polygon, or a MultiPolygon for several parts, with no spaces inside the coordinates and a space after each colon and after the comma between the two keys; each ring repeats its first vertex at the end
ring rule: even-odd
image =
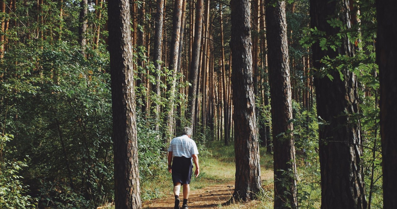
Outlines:
{"type": "Polygon", "coordinates": [[[274,208],[298,208],[285,2],[266,5],[274,145],[274,208]]]}

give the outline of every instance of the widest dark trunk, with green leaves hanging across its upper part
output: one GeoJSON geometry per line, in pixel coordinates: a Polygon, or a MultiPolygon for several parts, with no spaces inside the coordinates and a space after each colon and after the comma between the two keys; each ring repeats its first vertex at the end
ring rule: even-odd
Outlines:
{"type": "MultiPolygon", "coordinates": [[[[349,0],[310,0],[311,27],[335,36],[340,29],[327,20],[336,17],[351,28],[349,0]]],[[[341,46],[334,50],[321,50],[313,44],[314,68],[325,67],[320,59],[354,56],[354,46],[347,35],[341,46]]],[[[321,170],[321,209],[366,209],[364,174],[362,167],[362,139],[360,126],[351,115],[359,113],[357,77],[346,67],[340,72],[328,70],[334,79],[316,77],[318,117],[325,121],[319,127],[319,154],[321,170]],[[340,74],[343,79],[340,79],[340,74]]]]}

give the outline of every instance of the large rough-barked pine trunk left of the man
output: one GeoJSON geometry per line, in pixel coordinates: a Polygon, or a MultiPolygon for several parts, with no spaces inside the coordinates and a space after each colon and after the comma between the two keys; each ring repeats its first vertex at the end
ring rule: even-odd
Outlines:
{"type": "Polygon", "coordinates": [[[140,209],[133,53],[128,0],[108,2],[116,209],[140,209]]]}

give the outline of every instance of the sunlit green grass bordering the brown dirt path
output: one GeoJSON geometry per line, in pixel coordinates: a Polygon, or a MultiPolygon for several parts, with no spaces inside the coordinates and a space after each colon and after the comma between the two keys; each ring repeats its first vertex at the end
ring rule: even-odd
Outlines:
{"type": "MultiPolygon", "coordinates": [[[[197,178],[193,176],[190,184],[191,190],[227,182],[234,184],[235,153],[233,142],[231,142],[231,144],[232,145],[225,146],[223,142],[207,142],[205,148],[202,149],[198,155],[200,175],[197,178]]],[[[272,172],[272,155],[266,153],[266,148],[260,148],[260,165],[261,172],[272,172]]],[[[195,168],[193,168],[193,170],[194,169],[195,168]]],[[[273,205],[273,188],[269,186],[272,184],[272,178],[262,180],[264,192],[258,196],[258,204],[255,208],[270,208],[267,206],[273,205]]],[[[164,171],[161,171],[153,178],[141,182],[141,199],[142,201],[150,201],[151,199],[173,196],[172,188],[171,174],[167,171],[166,160],[164,159],[164,171]]],[[[224,209],[235,209],[241,207],[241,204],[242,203],[235,203],[228,206],[219,205],[219,207],[224,209]]],[[[107,208],[112,209],[114,206],[107,208]]]]}

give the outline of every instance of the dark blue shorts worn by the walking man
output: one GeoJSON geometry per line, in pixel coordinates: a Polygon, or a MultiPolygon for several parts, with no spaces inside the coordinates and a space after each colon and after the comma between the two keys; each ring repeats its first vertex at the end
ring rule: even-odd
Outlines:
{"type": "Polygon", "coordinates": [[[172,159],[172,182],[174,185],[178,182],[189,184],[193,173],[192,158],[173,157],[172,159]]]}

